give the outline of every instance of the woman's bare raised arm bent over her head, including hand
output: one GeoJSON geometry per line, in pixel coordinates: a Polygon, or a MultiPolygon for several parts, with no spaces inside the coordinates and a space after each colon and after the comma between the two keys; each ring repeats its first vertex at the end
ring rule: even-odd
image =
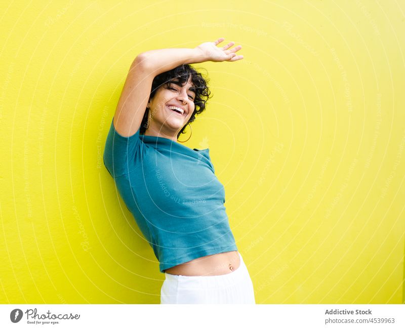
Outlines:
{"type": "Polygon", "coordinates": [[[234,44],[233,42],[221,48],[217,47],[223,40],[224,38],[220,38],[195,48],[158,49],[139,54],[130,67],[115,110],[113,124],[118,134],[129,137],[138,131],[149,101],[152,81],[156,75],[181,64],[206,61],[234,62],[243,58],[235,54],[242,48],[241,46],[228,50],[234,44]]]}

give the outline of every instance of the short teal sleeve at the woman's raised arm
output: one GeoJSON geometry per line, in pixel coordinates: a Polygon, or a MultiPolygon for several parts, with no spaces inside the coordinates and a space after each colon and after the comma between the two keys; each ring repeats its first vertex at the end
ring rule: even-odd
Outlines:
{"type": "Polygon", "coordinates": [[[111,120],[110,130],[104,148],[104,166],[113,178],[130,173],[136,169],[136,157],[140,153],[141,140],[138,131],[129,137],[118,134],[111,120]]]}

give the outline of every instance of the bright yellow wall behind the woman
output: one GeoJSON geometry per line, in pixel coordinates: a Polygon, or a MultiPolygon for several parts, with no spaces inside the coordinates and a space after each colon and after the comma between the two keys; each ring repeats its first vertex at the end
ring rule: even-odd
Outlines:
{"type": "Polygon", "coordinates": [[[137,54],[225,37],[245,58],[195,64],[214,97],[186,145],[210,148],[257,303],[402,303],[404,1],[0,9],[0,302],[159,303],[105,138],[137,54]]]}

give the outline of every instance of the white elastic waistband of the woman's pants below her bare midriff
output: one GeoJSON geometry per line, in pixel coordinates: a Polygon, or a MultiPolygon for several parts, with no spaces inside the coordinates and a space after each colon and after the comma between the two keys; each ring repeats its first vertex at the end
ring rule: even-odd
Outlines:
{"type": "Polygon", "coordinates": [[[219,283],[229,283],[234,282],[239,279],[245,278],[248,273],[248,269],[245,265],[242,255],[239,254],[240,265],[239,267],[227,274],[221,275],[198,275],[198,276],[188,276],[188,275],[174,275],[165,272],[166,280],[177,281],[177,282],[219,282],[219,283]]]}

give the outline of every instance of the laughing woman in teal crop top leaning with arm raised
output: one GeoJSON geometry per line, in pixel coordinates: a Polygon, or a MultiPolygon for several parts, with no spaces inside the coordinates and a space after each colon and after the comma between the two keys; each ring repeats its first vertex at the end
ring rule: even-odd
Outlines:
{"type": "Polygon", "coordinates": [[[138,55],[106,140],[104,164],[165,273],[161,304],[255,303],[209,149],[178,141],[210,96],[189,64],[243,58],[223,40],[138,55]]]}

